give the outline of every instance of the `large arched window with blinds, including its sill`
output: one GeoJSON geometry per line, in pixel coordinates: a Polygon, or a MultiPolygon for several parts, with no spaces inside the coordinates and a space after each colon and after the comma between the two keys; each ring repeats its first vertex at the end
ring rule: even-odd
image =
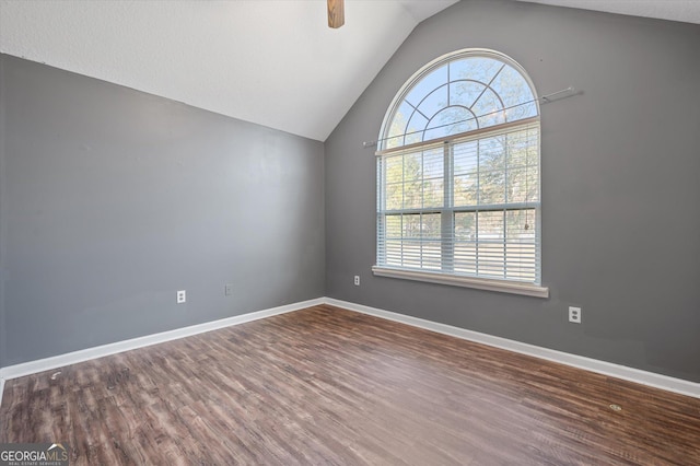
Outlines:
{"type": "Polygon", "coordinates": [[[380,132],[374,273],[546,296],[539,147],[511,58],[459,50],[416,72],[380,132]]]}

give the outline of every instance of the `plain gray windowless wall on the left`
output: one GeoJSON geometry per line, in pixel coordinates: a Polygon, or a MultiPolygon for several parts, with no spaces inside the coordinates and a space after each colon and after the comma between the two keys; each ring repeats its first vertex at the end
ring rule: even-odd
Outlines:
{"type": "Polygon", "coordinates": [[[324,294],[323,143],[0,66],[1,365],[324,294]]]}

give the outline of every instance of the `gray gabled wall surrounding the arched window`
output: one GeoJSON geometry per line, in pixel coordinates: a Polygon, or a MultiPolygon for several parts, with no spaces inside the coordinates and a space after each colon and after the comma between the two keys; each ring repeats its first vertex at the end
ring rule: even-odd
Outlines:
{"type": "Polygon", "coordinates": [[[421,23],[326,141],[326,295],[700,382],[698,50],[698,25],[532,3],[464,0],[421,23]],[[548,300],[370,270],[375,161],[362,141],[416,70],[467,47],[511,56],[540,95],[584,92],[542,106],[548,300]]]}

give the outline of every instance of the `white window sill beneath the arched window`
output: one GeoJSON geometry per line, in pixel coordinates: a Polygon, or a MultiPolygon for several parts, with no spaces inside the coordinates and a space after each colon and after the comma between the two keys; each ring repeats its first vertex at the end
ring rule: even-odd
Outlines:
{"type": "Polygon", "coordinates": [[[488,278],[462,277],[440,272],[400,270],[388,267],[372,267],[377,277],[402,278],[405,280],[427,281],[430,283],[450,284],[453,287],[476,288],[477,290],[498,291],[501,293],[523,294],[535,298],[549,298],[549,288],[517,281],[494,280],[488,278]]]}

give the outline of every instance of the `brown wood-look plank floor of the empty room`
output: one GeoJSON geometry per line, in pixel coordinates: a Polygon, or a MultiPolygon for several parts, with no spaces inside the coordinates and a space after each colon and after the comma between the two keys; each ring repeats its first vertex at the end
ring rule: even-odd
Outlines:
{"type": "Polygon", "coordinates": [[[0,442],[71,465],[700,465],[700,399],[327,305],[60,371],[7,382],[0,442]]]}

